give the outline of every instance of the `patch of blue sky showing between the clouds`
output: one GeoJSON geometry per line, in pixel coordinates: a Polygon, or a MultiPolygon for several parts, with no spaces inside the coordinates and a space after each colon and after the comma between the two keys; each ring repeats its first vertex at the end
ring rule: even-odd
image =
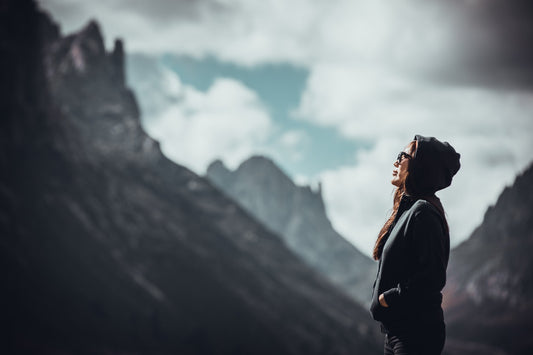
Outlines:
{"type": "MultiPolygon", "coordinates": [[[[317,126],[291,117],[290,113],[298,107],[306,86],[309,75],[306,68],[290,64],[244,67],[214,57],[197,59],[173,54],[163,55],[160,63],[178,74],[184,84],[200,91],[207,91],[216,78],[238,80],[257,93],[278,126],[278,135],[292,130],[304,132],[307,139],[299,146],[300,159],[289,159],[289,154],[281,151],[273,157],[293,177],[313,177],[327,169],[352,165],[357,149],[369,148],[368,143],[344,138],[335,128],[317,126]]],[[[278,135],[268,143],[274,144],[278,135]]]]}

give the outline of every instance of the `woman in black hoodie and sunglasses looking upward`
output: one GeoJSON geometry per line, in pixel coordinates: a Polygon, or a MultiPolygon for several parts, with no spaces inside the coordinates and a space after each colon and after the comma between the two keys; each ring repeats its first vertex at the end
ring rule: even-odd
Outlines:
{"type": "Polygon", "coordinates": [[[447,142],[417,135],[394,162],[394,205],[374,247],[379,266],[370,306],[386,334],[386,355],[433,355],[444,347],[450,238],[435,192],[451,184],[459,158],[447,142]]]}

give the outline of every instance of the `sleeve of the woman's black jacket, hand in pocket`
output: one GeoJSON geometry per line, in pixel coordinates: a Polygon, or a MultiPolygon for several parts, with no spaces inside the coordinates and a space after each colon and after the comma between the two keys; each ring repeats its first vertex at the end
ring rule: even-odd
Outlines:
{"type": "Polygon", "coordinates": [[[405,230],[406,245],[410,252],[410,267],[397,287],[384,292],[389,307],[395,304],[419,302],[438,295],[446,284],[449,257],[449,236],[442,218],[431,206],[415,211],[405,230]]]}

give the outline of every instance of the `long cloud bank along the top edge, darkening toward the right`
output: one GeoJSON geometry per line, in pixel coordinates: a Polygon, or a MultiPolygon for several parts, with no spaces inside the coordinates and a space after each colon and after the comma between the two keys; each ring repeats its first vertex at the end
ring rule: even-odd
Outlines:
{"type": "Polygon", "coordinates": [[[41,0],[74,31],[96,18],[130,52],[241,65],[384,63],[441,83],[533,87],[529,0],[41,0]]]}

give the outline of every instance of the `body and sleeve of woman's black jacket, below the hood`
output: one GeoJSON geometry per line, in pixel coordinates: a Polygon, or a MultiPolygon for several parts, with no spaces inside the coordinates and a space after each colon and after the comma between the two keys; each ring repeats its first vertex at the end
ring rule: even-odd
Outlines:
{"type": "Polygon", "coordinates": [[[370,312],[385,332],[442,323],[450,238],[438,210],[404,196],[379,259],[370,312]],[[389,307],[378,301],[384,293],[389,307]]]}

